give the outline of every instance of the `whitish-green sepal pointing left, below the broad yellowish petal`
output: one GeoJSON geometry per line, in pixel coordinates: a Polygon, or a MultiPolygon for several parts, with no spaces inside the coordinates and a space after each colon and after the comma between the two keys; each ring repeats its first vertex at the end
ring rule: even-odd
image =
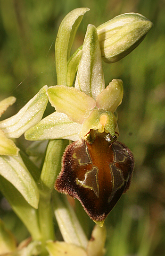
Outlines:
{"type": "Polygon", "coordinates": [[[25,132],[25,139],[29,141],[52,139],[77,141],[81,129],[82,124],[72,122],[69,117],[63,113],[54,112],[25,132]]]}

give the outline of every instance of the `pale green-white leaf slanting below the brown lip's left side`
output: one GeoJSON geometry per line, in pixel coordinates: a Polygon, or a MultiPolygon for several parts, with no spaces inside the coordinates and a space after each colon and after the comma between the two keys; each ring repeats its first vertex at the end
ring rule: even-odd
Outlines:
{"type": "Polygon", "coordinates": [[[66,197],[54,191],[53,201],[54,213],[64,241],[86,249],[88,240],[66,197]]]}

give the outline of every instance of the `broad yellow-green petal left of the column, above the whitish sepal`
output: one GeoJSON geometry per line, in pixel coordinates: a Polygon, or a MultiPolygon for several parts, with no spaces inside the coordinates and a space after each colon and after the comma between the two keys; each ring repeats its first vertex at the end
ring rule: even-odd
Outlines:
{"type": "Polygon", "coordinates": [[[73,122],[82,124],[96,106],[93,98],[73,87],[52,86],[48,88],[49,101],[55,109],[66,114],[73,122]]]}

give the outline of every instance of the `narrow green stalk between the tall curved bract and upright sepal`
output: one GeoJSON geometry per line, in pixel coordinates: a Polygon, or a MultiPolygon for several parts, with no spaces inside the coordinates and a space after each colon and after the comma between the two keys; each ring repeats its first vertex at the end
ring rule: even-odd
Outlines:
{"type": "Polygon", "coordinates": [[[67,86],[71,87],[82,56],[82,47],[78,48],[67,62],[67,86]]]}

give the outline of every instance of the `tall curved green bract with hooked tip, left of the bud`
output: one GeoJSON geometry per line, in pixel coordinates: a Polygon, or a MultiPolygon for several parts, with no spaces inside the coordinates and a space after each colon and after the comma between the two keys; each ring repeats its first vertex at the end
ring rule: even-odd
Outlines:
{"type": "Polygon", "coordinates": [[[62,20],[55,44],[56,71],[58,85],[67,84],[67,60],[74,41],[77,29],[82,21],[83,15],[88,8],[77,8],[69,12],[62,20]]]}

